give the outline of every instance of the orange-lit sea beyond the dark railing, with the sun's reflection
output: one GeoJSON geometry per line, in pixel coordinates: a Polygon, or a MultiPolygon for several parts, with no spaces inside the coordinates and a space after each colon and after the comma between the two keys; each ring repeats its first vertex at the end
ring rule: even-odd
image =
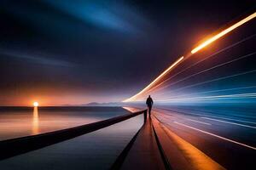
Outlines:
{"type": "Polygon", "coordinates": [[[76,127],[126,113],[120,107],[0,107],[0,140],[76,127]]]}

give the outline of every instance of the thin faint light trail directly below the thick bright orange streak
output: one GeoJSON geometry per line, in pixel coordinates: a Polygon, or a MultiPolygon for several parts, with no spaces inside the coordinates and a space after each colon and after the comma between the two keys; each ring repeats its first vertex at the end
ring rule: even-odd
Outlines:
{"type": "Polygon", "coordinates": [[[158,88],[160,85],[164,84],[165,82],[168,82],[168,81],[171,80],[173,77],[177,77],[177,75],[183,73],[184,71],[189,70],[189,69],[192,68],[193,66],[198,65],[198,64],[200,64],[201,62],[203,62],[203,61],[205,61],[205,60],[207,60],[207,59],[210,59],[211,57],[213,57],[213,56],[215,56],[215,55],[217,55],[217,54],[220,54],[220,53],[224,52],[224,51],[227,50],[227,49],[236,47],[237,45],[241,44],[241,42],[246,42],[247,40],[249,40],[249,39],[251,39],[251,38],[253,38],[253,37],[255,37],[255,36],[256,36],[256,34],[253,34],[252,36],[246,37],[246,38],[240,40],[239,42],[235,42],[235,43],[231,44],[230,46],[228,46],[228,47],[226,47],[226,48],[222,48],[222,49],[220,49],[218,52],[216,52],[216,53],[214,53],[214,54],[211,54],[211,55],[209,55],[208,57],[197,61],[197,62],[196,62],[195,64],[193,64],[193,65],[189,65],[188,67],[186,67],[186,68],[183,69],[182,71],[177,72],[177,73],[176,73],[175,75],[173,75],[172,77],[169,77],[169,78],[167,78],[166,80],[164,80],[163,82],[160,82],[158,85],[154,86],[154,88],[150,88],[150,89],[148,90],[148,93],[154,91],[155,88],[158,88]]]}

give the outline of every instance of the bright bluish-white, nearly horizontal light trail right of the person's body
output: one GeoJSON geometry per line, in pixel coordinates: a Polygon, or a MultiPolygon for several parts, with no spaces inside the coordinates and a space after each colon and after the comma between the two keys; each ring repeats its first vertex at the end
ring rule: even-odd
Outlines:
{"type": "Polygon", "coordinates": [[[204,96],[194,98],[181,98],[181,99],[157,99],[157,102],[180,102],[180,101],[200,101],[200,100],[213,100],[213,99],[239,99],[239,98],[256,98],[256,94],[227,94],[216,96],[204,96]]]}

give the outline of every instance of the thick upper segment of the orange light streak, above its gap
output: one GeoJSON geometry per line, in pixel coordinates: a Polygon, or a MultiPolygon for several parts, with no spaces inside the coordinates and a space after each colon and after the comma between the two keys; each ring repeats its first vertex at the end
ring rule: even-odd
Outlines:
{"type": "Polygon", "coordinates": [[[230,26],[229,28],[225,29],[224,31],[221,31],[220,33],[218,33],[217,35],[215,35],[214,37],[211,37],[210,39],[208,39],[206,42],[201,43],[201,45],[199,45],[198,47],[194,48],[191,53],[195,54],[197,51],[201,50],[201,48],[206,47],[207,45],[209,45],[210,43],[216,41],[218,38],[223,37],[225,34],[229,33],[230,31],[235,30],[238,26],[243,25],[244,23],[246,23],[249,20],[253,20],[253,18],[256,17],[256,12],[247,16],[247,18],[240,20],[239,22],[237,22],[236,24],[234,24],[233,26],[230,26]]]}

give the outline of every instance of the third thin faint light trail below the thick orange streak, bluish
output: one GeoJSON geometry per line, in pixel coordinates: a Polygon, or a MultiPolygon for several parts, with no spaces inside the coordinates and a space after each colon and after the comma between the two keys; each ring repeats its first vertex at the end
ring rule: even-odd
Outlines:
{"type": "MultiPolygon", "coordinates": [[[[238,74],[235,74],[235,75],[230,75],[230,76],[227,76],[227,77],[215,78],[215,79],[212,79],[212,80],[208,80],[206,82],[198,82],[198,83],[195,83],[195,84],[191,84],[189,86],[185,86],[183,88],[176,88],[176,89],[172,90],[172,92],[180,91],[180,90],[183,90],[185,88],[193,88],[193,87],[200,86],[202,84],[206,84],[206,83],[209,83],[209,82],[217,82],[219,80],[224,80],[224,79],[228,79],[228,78],[232,78],[232,77],[239,77],[239,76],[243,76],[243,75],[254,73],[254,72],[256,72],[256,69],[252,70],[252,71],[241,72],[241,73],[238,73],[238,74]]],[[[166,94],[166,92],[165,92],[165,94],[166,94]]]]}

